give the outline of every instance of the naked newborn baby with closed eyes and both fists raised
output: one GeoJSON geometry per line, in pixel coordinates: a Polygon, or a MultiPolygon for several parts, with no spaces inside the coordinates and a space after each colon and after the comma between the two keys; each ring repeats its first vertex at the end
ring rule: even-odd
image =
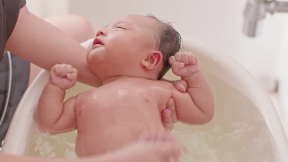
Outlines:
{"type": "Polygon", "coordinates": [[[196,55],[178,52],[180,41],[172,26],[151,16],[127,15],[108,24],[87,49],[87,64],[103,85],[63,102],[78,71],[71,65],[55,65],[36,111],[41,130],[77,129],[77,155],[91,156],[137,141],[147,131],[166,133],[161,112],[170,98],[179,121],[210,121],[212,93],[196,55]],[[186,93],[159,80],[171,67],[187,82],[186,93]]]}

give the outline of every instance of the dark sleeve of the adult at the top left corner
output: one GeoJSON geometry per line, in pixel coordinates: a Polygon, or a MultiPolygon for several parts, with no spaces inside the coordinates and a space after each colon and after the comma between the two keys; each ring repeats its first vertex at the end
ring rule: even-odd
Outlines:
{"type": "Polygon", "coordinates": [[[6,41],[18,20],[20,9],[26,0],[0,0],[0,61],[3,58],[6,41]]]}

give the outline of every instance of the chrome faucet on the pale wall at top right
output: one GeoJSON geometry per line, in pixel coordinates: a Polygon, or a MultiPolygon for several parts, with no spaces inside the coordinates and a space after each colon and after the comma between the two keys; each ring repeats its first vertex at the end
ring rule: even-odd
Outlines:
{"type": "Polygon", "coordinates": [[[266,13],[288,12],[288,1],[247,0],[244,10],[243,32],[248,37],[256,37],[261,21],[266,13]]]}

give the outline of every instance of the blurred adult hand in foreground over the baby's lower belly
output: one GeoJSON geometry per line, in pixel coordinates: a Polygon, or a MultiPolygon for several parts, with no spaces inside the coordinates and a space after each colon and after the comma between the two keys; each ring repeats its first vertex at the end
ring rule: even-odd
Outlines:
{"type": "Polygon", "coordinates": [[[185,155],[187,151],[171,134],[147,132],[142,135],[139,141],[130,143],[111,153],[104,156],[108,156],[112,160],[113,157],[118,156],[119,159],[125,160],[123,162],[179,162],[180,157],[185,155]],[[112,158],[110,158],[111,156],[112,158]]]}

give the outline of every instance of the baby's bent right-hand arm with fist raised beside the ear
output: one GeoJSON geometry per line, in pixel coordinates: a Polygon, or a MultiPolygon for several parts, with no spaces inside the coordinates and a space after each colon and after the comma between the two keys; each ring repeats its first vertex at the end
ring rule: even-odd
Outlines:
{"type": "Polygon", "coordinates": [[[190,124],[204,124],[214,115],[214,99],[202,72],[198,68],[198,59],[190,52],[176,53],[169,58],[172,71],[187,82],[186,93],[174,88],[172,98],[175,100],[179,121],[190,124]]]}

